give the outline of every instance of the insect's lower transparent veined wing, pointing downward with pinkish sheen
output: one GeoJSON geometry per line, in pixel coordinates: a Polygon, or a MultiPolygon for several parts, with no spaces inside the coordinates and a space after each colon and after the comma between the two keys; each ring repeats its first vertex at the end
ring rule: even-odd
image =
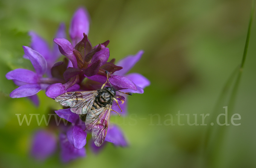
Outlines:
{"type": "Polygon", "coordinates": [[[91,110],[87,114],[85,125],[88,130],[92,130],[92,137],[96,146],[101,146],[106,138],[110,111],[111,105],[107,105],[91,110]]]}

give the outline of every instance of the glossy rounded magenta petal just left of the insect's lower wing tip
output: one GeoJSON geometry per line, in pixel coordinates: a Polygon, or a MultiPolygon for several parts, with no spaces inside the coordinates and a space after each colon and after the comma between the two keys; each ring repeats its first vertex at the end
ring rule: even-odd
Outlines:
{"type": "Polygon", "coordinates": [[[86,144],[87,134],[77,125],[72,126],[67,131],[67,139],[76,149],[81,149],[86,144]]]}

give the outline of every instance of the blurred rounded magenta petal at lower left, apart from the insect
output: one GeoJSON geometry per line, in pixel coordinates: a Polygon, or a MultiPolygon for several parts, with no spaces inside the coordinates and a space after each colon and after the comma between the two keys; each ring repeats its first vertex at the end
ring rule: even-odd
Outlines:
{"type": "Polygon", "coordinates": [[[44,161],[56,151],[56,148],[57,140],[52,132],[40,130],[34,134],[31,155],[35,159],[44,161]]]}

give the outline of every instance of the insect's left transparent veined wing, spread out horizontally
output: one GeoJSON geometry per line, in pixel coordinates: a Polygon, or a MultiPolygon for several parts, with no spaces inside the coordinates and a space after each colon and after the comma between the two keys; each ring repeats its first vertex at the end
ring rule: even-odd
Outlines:
{"type": "Polygon", "coordinates": [[[87,114],[92,108],[98,91],[74,91],[61,94],[55,98],[63,106],[70,106],[70,110],[76,114],[87,114]]]}

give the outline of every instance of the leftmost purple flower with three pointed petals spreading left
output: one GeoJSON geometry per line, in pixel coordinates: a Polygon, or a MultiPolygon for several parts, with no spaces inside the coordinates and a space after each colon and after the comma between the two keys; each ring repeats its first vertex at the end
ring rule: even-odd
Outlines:
{"type": "Polygon", "coordinates": [[[12,91],[10,97],[30,97],[36,101],[36,97],[31,96],[37,94],[47,85],[58,82],[59,80],[55,78],[44,78],[43,74],[47,71],[47,62],[45,58],[37,51],[32,50],[27,46],[23,46],[23,48],[36,72],[22,68],[8,72],[6,78],[8,80],[13,80],[16,85],[20,86],[12,91]]]}

